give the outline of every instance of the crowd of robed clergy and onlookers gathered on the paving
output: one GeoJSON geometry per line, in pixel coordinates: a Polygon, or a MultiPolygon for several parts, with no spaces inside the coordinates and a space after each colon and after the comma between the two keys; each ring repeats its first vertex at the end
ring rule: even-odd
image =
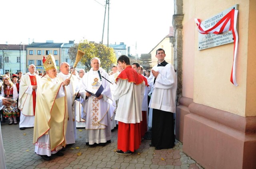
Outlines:
{"type": "Polygon", "coordinates": [[[34,127],[35,153],[46,161],[52,154],[64,155],[65,147],[76,142],[76,128],[85,128],[89,147],[111,143],[111,131],[118,128],[116,153],[120,155],[136,151],[148,127],[152,128],[150,146],[172,148],[177,78],[165,56],[164,49],[158,49],[158,64],[144,70],[121,55],[110,73],[102,69],[98,57],[90,60],[88,72],[63,62],[58,73],[54,57],[44,56],[44,75],[35,65],[29,65],[25,74],[3,75],[1,121],[19,124],[20,130],[34,127]]]}

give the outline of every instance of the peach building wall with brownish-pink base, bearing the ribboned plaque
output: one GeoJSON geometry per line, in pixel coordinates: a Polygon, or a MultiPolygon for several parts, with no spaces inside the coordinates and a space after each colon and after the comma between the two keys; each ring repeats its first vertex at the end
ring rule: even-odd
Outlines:
{"type": "Polygon", "coordinates": [[[206,169],[256,166],[255,7],[252,0],[174,0],[174,36],[170,41],[178,70],[176,138],[183,142],[184,153],[206,169]],[[194,20],[199,18],[208,25],[208,20],[219,18],[216,24],[233,6],[239,15],[238,86],[230,82],[234,43],[201,50],[194,20]]]}

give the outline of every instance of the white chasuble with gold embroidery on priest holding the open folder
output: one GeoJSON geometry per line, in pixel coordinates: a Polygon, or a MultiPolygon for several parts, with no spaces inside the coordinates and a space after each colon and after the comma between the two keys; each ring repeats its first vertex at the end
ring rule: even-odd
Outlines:
{"type": "MultiPolygon", "coordinates": [[[[108,73],[99,69],[102,76],[108,79],[108,73]]],[[[100,81],[97,71],[91,69],[87,72],[82,78],[82,83],[80,84],[80,94],[83,98],[83,108],[84,112],[82,113],[82,118],[86,120],[86,129],[104,129],[109,124],[107,118],[107,113],[109,116],[113,116],[113,112],[109,112],[111,99],[110,83],[106,79],[102,78],[100,81]],[[86,99],[85,90],[96,93],[98,88],[102,85],[104,90],[102,92],[103,98],[98,100],[94,96],[89,96],[86,99]]]]}

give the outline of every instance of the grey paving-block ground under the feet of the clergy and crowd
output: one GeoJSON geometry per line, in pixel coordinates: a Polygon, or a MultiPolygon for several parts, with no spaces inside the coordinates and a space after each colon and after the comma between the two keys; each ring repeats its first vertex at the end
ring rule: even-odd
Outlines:
{"type": "Polygon", "coordinates": [[[182,151],[177,140],[172,149],[162,150],[150,147],[151,140],[142,140],[132,155],[118,155],[117,129],[112,132],[111,143],[88,147],[85,129],[77,128],[76,143],[63,151],[64,156],[52,155],[51,161],[44,161],[34,153],[33,128],[20,130],[19,125],[8,123],[1,122],[7,169],[203,169],[182,151]]]}

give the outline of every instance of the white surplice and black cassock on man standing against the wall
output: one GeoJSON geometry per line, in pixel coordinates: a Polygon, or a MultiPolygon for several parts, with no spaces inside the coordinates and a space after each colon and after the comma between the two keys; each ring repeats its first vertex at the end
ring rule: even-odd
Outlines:
{"type": "Polygon", "coordinates": [[[174,119],[176,109],[177,77],[171,64],[163,61],[152,68],[158,71],[157,78],[150,73],[148,83],[153,88],[149,107],[152,116],[152,146],[156,149],[174,146],[174,119]]]}

